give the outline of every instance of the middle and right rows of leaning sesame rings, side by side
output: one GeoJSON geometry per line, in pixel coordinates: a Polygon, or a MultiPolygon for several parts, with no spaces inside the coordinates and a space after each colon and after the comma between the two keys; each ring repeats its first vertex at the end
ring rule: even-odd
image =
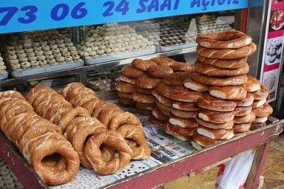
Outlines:
{"type": "Polygon", "coordinates": [[[35,86],[27,98],[39,115],[62,128],[81,164],[101,175],[116,173],[131,159],[151,155],[140,120],[99,100],[81,83],[67,85],[62,96],[46,86],[35,86]],[[101,122],[91,115],[98,115],[101,122]]]}

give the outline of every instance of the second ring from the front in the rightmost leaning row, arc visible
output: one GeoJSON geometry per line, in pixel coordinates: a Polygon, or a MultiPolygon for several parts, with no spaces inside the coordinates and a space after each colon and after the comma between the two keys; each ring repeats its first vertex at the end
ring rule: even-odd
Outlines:
{"type": "Polygon", "coordinates": [[[137,127],[142,127],[136,115],[128,112],[116,115],[109,124],[109,130],[117,130],[121,125],[136,125],[137,127]]]}

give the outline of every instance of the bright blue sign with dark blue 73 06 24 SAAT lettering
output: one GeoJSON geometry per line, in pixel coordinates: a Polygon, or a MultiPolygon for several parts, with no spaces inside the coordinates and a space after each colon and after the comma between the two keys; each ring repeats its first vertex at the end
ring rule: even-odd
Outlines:
{"type": "Polygon", "coordinates": [[[247,8],[249,0],[0,0],[0,33],[247,8]]]}

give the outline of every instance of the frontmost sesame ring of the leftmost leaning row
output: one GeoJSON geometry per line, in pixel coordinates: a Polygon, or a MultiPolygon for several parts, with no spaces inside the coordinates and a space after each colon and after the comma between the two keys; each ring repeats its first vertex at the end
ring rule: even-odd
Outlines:
{"type": "Polygon", "coordinates": [[[60,134],[48,132],[31,139],[23,150],[28,162],[33,166],[43,182],[49,185],[62,185],[75,178],[80,167],[80,159],[70,142],[60,134]],[[43,145],[44,144],[44,145],[43,145]],[[65,168],[53,171],[44,166],[44,158],[60,154],[65,159],[65,168]]]}

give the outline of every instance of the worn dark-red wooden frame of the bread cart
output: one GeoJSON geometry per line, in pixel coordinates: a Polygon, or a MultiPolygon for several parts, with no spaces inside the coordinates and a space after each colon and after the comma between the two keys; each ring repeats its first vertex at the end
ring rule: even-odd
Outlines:
{"type": "MultiPolygon", "coordinates": [[[[193,151],[191,154],[186,154],[185,156],[180,156],[178,159],[166,161],[163,164],[158,164],[131,176],[124,176],[124,178],[116,181],[114,181],[115,179],[109,179],[102,188],[154,188],[155,186],[173,181],[186,174],[193,176],[197,173],[201,173],[207,168],[222,164],[224,161],[231,159],[232,156],[257,147],[253,168],[249,174],[248,185],[246,186],[247,188],[255,188],[254,186],[256,185],[256,180],[259,178],[261,169],[263,168],[268,148],[270,147],[271,141],[276,139],[280,132],[282,132],[284,120],[279,121],[270,117],[268,118],[267,124],[266,127],[262,127],[261,129],[236,136],[222,143],[202,149],[201,151],[193,151]]],[[[148,140],[149,139],[152,138],[149,137],[148,140]]],[[[35,171],[33,171],[33,168],[27,164],[26,160],[23,159],[1,132],[0,142],[0,155],[4,158],[25,188],[49,188],[48,185],[45,185],[43,181],[40,180],[35,171]]],[[[176,144],[173,142],[173,145],[176,144]]],[[[163,146],[160,145],[159,147],[161,148],[163,146]]],[[[162,150],[160,148],[155,151],[158,152],[162,150]]],[[[153,159],[153,156],[151,159],[153,159]]],[[[84,183],[85,187],[91,187],[87,182],[94,183],[93,180],[98,178],[94,172],[91,171],[90,173],[92,173],[92,177],[89,180],[87,179],[86,172],[83,174],[81,173],[82,179],[78,176],[75,180],[80,179],[80,183],[84,183]]],[[[74,182],[76,183],[77,181],[74,182]]],[[[55,188],[65,188],[65,185],[60,185],[55,188]]],[[[70,188],[70,185],[68,185],[67,188],[70,188]]],[[[94,185],[92,188],[95,188],[94,185]]]]}

